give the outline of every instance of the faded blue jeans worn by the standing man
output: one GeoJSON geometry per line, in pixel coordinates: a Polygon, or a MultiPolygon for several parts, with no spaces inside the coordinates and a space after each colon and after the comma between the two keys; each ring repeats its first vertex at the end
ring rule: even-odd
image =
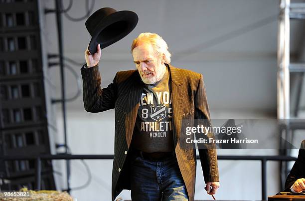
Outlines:
{"type": "Polygon", "coordinates": [[[164,161],[133,157],[130,174],[132,201],[188,201],[175,156],[164,161]]]}

